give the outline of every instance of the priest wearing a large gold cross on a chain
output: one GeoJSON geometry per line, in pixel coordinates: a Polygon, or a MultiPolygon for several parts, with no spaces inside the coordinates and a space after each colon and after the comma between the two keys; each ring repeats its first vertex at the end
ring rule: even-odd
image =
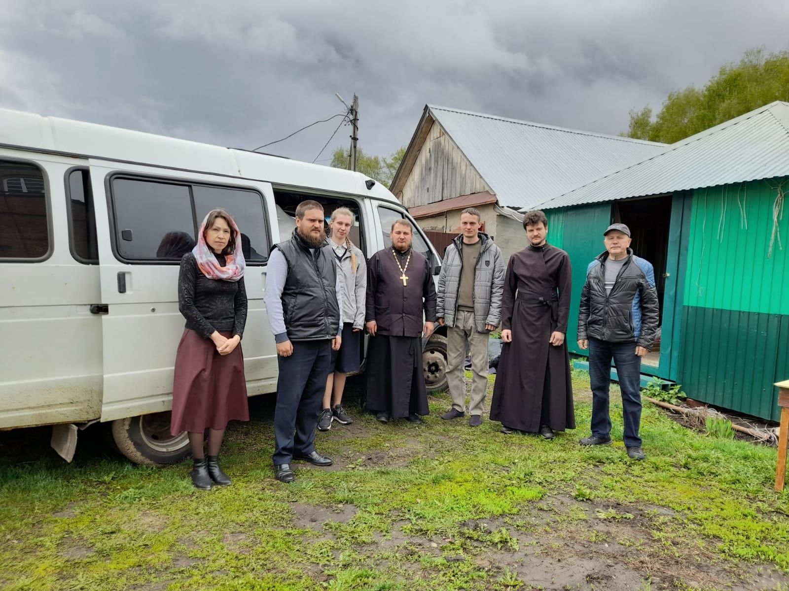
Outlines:
{"type": "Polygon", "coordinates": [[[421,423],[420,416],[430,412],[421,336],[433,332],[436,286],[428,259],[413,251],[412,239],[410,222],[395,221],[392,246],[372,255],[367,266],[367,410],[383,423],[421,423]]]}

